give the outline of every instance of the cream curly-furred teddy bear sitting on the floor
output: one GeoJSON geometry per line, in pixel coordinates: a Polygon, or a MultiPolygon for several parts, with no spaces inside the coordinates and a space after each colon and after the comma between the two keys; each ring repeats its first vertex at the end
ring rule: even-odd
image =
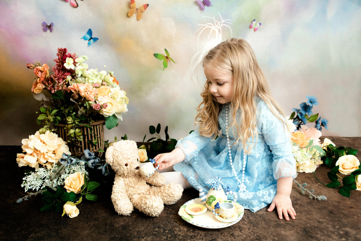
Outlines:
{"type": "Polygon", "coordinates": [[[164,204],[174,204],[182,197],[183,187],[166,184],[157,171],[148,178],[141,175],[139,159],[135,141],[120,140],[106,150],[105,161],[116,172],[111,196],[114,209],[130,215],[135,207],[148,216],[158,216],[164,204]]]}

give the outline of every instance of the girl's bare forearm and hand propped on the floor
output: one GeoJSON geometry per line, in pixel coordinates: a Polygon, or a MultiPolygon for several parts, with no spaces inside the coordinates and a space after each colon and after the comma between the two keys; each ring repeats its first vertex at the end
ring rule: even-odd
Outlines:
{"type": "Polygon", "coordinates": [[[295,219],[296,211],[292,207],[292,202],[290,198],[292,190],[292,176],[287,176],[284,178],[277,179],[277,194],[273,198],[271,206],[267,211],[273,211],[274,207],[277,207],[278,218],[282,219],[282,214],[284,219],[289,221],[288,214],[290,214],[292,219],[295,219]]]}

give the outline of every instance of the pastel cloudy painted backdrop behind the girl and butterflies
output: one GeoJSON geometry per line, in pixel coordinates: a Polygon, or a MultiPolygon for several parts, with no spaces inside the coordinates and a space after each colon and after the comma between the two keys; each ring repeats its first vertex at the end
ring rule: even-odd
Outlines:
{"type": "MultiPolygon", "coordinates": [[[[73,8],[64,0],[0,1],[1,145],[21,145],[39,130],[32,97],[34,73],[26,63],[54,65],[58,47],[87,55],[90,68],[114,71],[129,97],[128,112],[106,139],[142,141],[148,127],[161,123],[172,138],[194,130],[201,85],[190,82],[190,60],[197,52],[198,24],[219,19],[232,23],[233,37],[246,39],[268,78],[274,97],[290,114],[306,101],[329,121],[323,135],[360,136],[360,1],[211,0],[204,12],[195,0],[136,0],[149,4],[140,21],[129,18],[130,0],[83,0],[73,8]],[[249,29],[253,19],[258,31],[249,29]],[[42,22],[53,22],[43,32],[42,22]],[[98,41],[81,39],[91,28],[98,41]],[[162,70],[153,53],[168,49],[177,63],[162,70]]],[[[230,31],[224,35],[231,37],[230,31]]],[[[202,84],[203,85],[203,84],[202,84]]],[[[309,125],[312,126],[312,125],[309,125]]]]}

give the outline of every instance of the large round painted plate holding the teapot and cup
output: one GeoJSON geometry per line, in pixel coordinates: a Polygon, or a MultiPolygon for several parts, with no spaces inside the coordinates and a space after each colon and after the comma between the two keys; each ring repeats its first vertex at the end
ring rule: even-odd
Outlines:
{"type": "MultiPolygon", "coordinates": [[[[236,214],[231,218],[232,220],[230,221],[230,219],[226,219],[227,222],[224,222],[222,220],[218,220],[211,211],[209,211],[208,209],[200,215],[192,215],[187,213],[186,208],[187,206],[190,206],[192,204],[200,204],[203,205],[203,203],[201,203],[199,201],[199,198],[195,198],[192,199],[186,203],[184,203],[178,211],[178,215],[182,217],[183,220],[185,220],[186,222],[193,224],[197,227],[201,227],[201,228],[209,228],[209,229],[218,229],[218,228],[225,228],[225,227],[229,227],[233,224],[236,224],[239,222],[239,220],[242,219],[243,214],[244,214],[244,208],[242,205],[240,205],[237,202],[233,202],[235,204],[236,207],[236,214]],[[234,220],[234,217],[236,217],[236,219],[234,220]]],[[[223,219],[223,218],[221,218],[223,219]]]]}

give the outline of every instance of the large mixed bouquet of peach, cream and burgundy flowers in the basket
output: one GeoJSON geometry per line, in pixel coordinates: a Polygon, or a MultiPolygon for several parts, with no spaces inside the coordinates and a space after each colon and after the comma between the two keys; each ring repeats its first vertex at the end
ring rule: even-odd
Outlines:
{"type": "Polygon", "coordinates": [[[85,135],[79,128],[81,124],[103,120],[110,130],[118,124],[118,119],[122,120],[128,104],[126,92],[119,87],[113,72],[88,69],[86,60],[87,56],[79,57],[67,53],[66,48],[58,48],[52,73],[46,63],[26,65],[36,76],[31,91],[36,100],[42,101],[36,120],[44,124],[40,134],[56,132],[55,127],[64,124],[66,141],[76,147],[85,135]],[[51,94],[50,98],[42,93],[44,89],[51,94]]]}

